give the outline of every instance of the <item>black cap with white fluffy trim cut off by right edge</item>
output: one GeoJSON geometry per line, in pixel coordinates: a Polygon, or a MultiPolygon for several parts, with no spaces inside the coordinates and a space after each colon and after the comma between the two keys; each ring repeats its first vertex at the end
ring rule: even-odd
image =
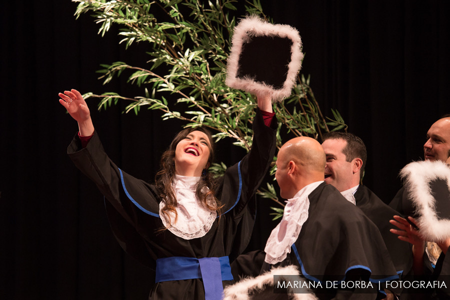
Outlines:
{"type": "Polygon", "coordinates": [[[428,241],[450,237],[450,167],[442,161],[414,161],[400,171],[404,179],[403,207],[418,220],[428,241]]]}

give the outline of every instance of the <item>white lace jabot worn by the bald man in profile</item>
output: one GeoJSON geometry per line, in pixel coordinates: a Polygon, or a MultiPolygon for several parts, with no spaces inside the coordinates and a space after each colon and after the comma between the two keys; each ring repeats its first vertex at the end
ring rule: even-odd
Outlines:
{"type": "Polygon", "coordinates": [[[310,183],[286,201],[283,218],[272,230],[265,244],[265,262],[275,264],[286,258],[290,246],[297,240],[303,223],[308,218],[309,194],[323,181],[310,183]]]}

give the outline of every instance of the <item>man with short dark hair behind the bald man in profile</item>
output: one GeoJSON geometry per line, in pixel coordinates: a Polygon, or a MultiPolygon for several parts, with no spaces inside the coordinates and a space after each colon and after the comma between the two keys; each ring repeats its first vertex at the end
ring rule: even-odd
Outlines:
{"type": "Polygon", "coordinates": [[[390,232],[389,220],[398,213],[361,183],[367,160],[364,142],[348,132],[329,132],[323,137],[322,147],[326,155],[325,182],[336,187],[375,223],[397,273],[408,273],[412,267],[410,245],[390,232]]]}

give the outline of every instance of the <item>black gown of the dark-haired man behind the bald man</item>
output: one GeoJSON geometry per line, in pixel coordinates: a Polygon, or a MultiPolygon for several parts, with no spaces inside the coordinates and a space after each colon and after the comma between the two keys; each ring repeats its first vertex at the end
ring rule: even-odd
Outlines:
{"type": "Polygon", "coordinates": [[[356,206],[378,227],[397,273],[407,274],[412,267],[411,244],[389,231],[389,220],[398,212],[378,198],[368,187],[359,185],[354,193],[356,206]]]}

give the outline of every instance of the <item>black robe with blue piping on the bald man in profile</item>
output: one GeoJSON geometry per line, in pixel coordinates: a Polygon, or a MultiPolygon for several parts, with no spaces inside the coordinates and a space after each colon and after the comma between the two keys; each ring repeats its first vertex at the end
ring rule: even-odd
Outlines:
{"type": "Polygon", "coordinates": [[[355,205],[347,201],[332,185],[321,183],[308,196],[308,218],[287,257],[270,265],[262,262],[263,251],[239,256],[232,264],[233,275],[255,275],[272,267],[297,265],[301,274],[312,281],[370,280],[371,293],[354,293],[355,289],[316,289],[319,299],[382,297],[377,293],[378,281],[397,279],[383,239],[372,221],[355,205]],[[262,265],[254,265],[254,263],[262,265]]]}

